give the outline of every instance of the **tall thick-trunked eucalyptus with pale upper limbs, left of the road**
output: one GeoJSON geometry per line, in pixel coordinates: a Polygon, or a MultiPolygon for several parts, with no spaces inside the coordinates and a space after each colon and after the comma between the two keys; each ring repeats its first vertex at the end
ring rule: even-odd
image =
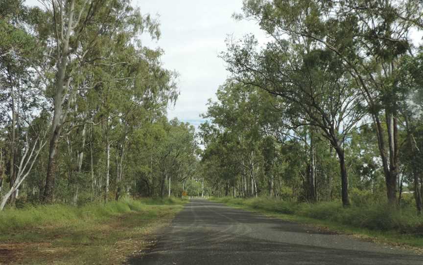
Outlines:
{"type": "MultiPolygon", "coordinates": [[[[53,0],[42,1],[49,17],[46,56],[49,65],[45,72],[54,78],[48,80],[52,99],[53,119],[49,143],[44,201],[53,199],[54,176],[56,171],[57,147],[63,126],[81,89],[96,87],[98,80],[86,75],[85,67],[91,64],[122,64],[114,61],[114,54],[101,52],[104,44],[122,33],[139,33],[147,29],[158,35],[157,23],[149,16],[142,17],[138,9],[131,7],[127,0],[53,0]],[[47,55],[48,54],[48,55],[47,55]],[[51,75],[50,75],[51,76],[51,75]]],[[[124,77],[129,78],[129,77],[124,77]]]]}

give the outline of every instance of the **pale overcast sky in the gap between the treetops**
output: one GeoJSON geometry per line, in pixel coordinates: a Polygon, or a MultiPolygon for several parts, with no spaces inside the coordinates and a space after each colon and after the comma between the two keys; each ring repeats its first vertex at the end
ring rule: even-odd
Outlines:
{"type": "Polygon", "coordinates": [[[181,91],[168,117],[198,126],[200,113],[207,110],[207,100],[228,76],[218,54],[226,49],[225,39],[235,39],[253,33],[260,41],[265,34],[255,22],[237,22],[234,12],[240,13],[242,0],[133,0],[141,13],[159,16],[162,37],[157,42],[142,37],[149,47],[164,49],[164,67],[179,73],[181,91]]]}

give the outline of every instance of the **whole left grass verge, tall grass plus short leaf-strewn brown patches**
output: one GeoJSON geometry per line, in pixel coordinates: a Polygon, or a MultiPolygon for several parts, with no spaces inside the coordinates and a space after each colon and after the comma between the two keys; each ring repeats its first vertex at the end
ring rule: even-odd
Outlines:
{"type": "Polygon", "coordinates": [[[186,201],[124,199],[0,212],[0,264],[122,264],[150,246],[186,201]]]}

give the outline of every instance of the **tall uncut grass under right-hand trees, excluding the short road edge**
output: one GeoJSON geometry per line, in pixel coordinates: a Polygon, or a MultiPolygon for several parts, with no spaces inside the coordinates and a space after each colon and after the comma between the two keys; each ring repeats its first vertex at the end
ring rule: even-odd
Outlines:
{"type": "Polygon", "coordinates": [[[216,198],[219,202],[243,205],[253,209],[327,220],[371,230],[398,230],[401,233],[423,235],[423,217],[411,205],[390,210],[383,202],[368,202],[344,208],[338,201],[295,203],[269,198],[234,199],[216,198]]]}

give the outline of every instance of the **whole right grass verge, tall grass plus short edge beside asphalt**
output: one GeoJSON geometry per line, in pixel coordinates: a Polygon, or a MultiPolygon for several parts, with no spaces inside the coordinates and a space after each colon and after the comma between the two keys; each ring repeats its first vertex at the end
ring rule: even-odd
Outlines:
{"type": "Polygon", "coordinates": [[[390,211],[384,203],[342,207],[340,202],[295,203],[279,199],[212,198],[288,221],[313,224],[372,241],[423,248],[423,217],[411,206],[390,211]]]}

